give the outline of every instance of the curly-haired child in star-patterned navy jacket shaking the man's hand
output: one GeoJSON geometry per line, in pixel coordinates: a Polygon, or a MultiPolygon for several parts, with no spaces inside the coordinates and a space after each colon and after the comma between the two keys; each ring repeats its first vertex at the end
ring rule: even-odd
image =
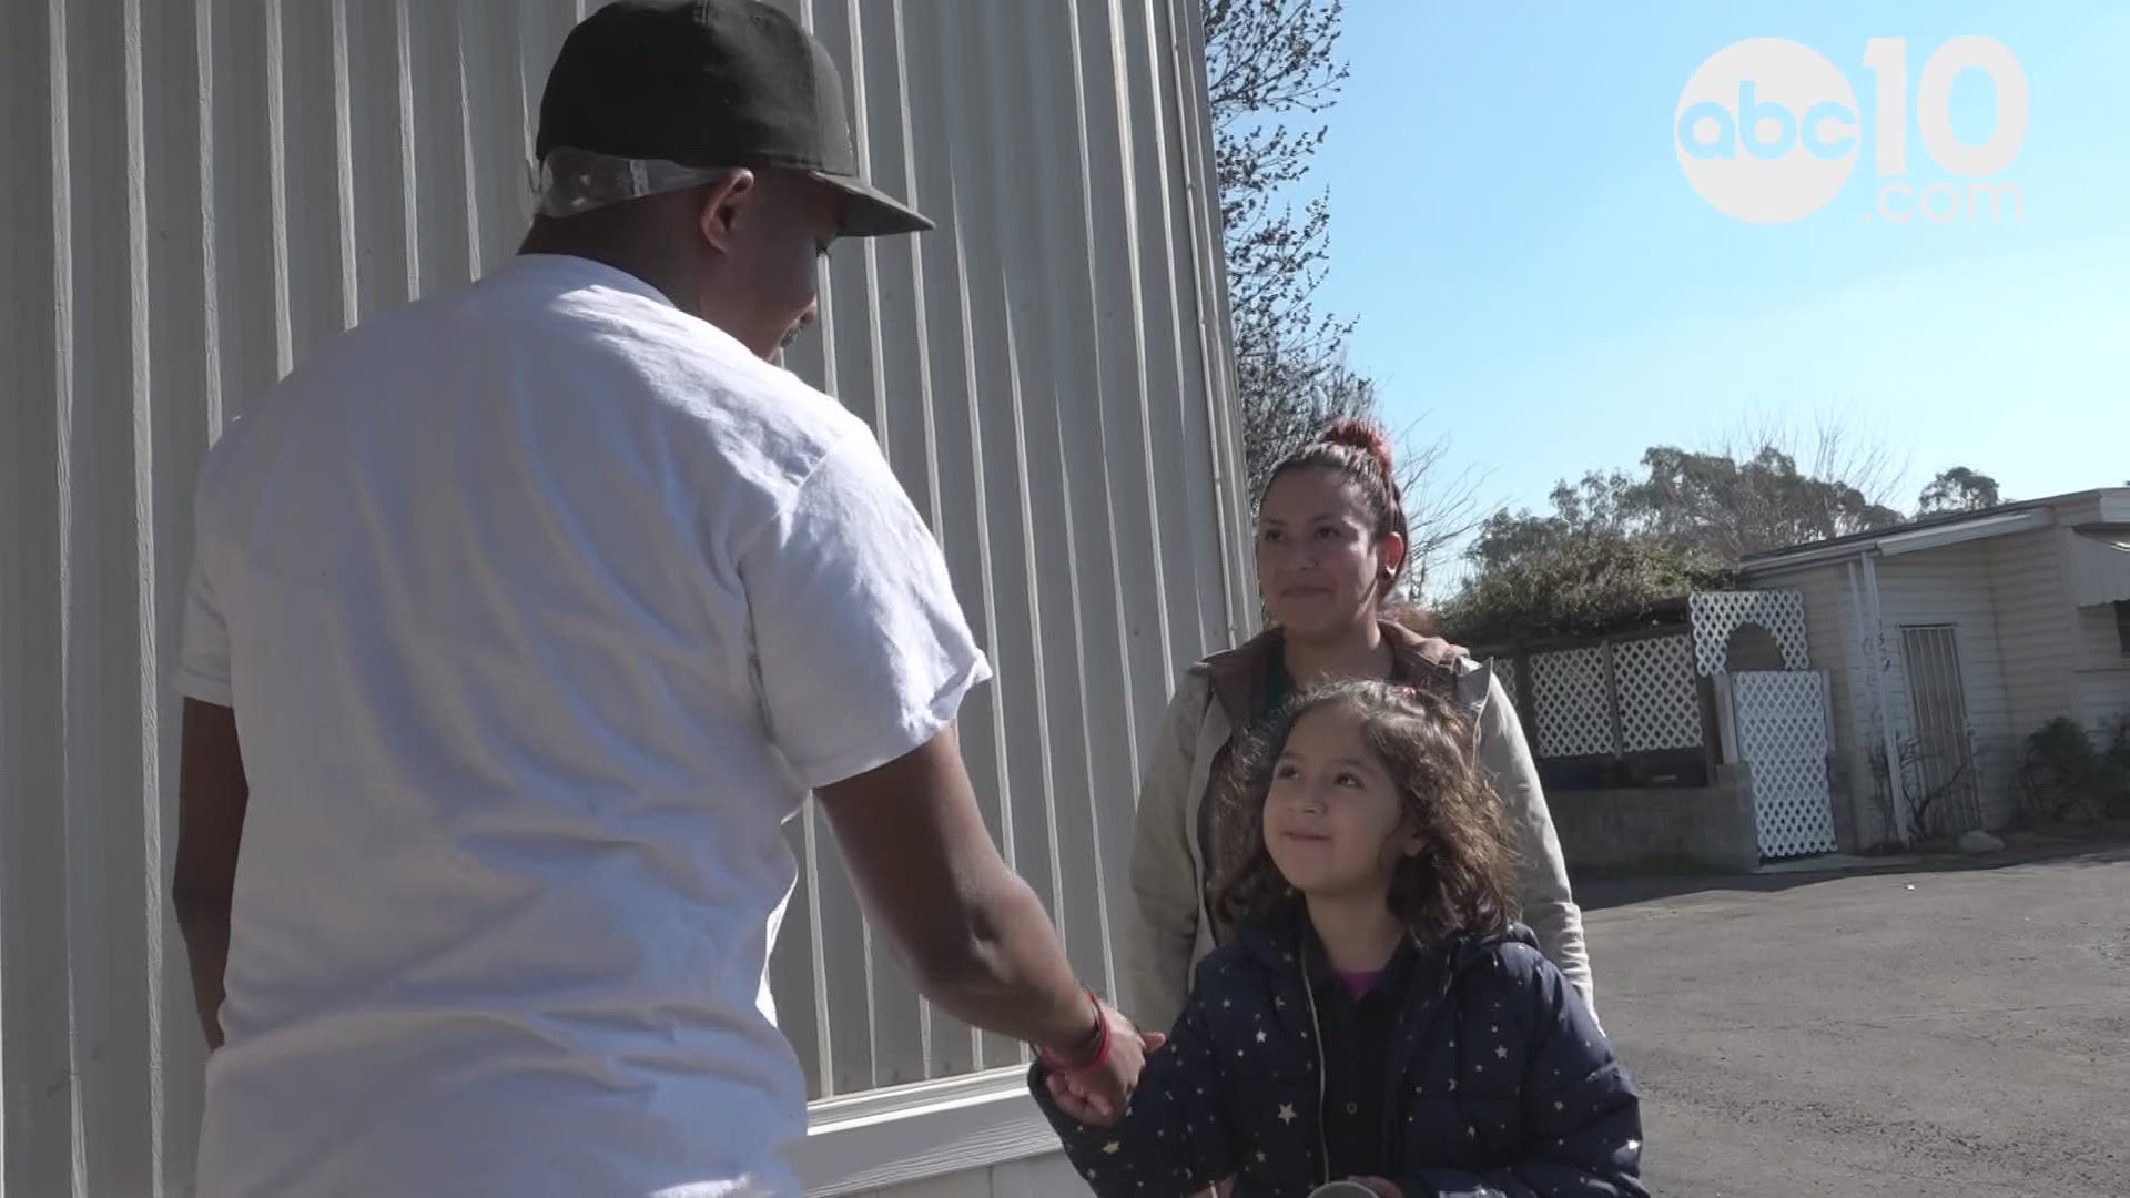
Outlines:
{"type": "Polygon", "coordinates": [[[1512,923],[1500,799],[1453,699],[1310,691],[1252,752],[1197,970],[1123,1119],[1031,1085],[1101,1196],[1646,1196],[1640,1098],[1589,1008],[1512,923]]]}

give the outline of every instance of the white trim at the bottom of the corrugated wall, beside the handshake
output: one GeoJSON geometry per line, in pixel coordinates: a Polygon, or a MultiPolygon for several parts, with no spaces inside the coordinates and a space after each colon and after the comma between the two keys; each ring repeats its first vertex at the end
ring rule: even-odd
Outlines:
{"type": "Polygon", "coordinates": [[[807,1198],[861,1194],[1059,1151],[1027,1066],[829,1098],[792,1164],[807,1198]]]}

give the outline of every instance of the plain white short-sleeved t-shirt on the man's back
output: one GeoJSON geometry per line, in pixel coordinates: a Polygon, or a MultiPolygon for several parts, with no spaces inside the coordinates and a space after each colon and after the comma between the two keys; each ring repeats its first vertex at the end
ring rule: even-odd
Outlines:
{"type": "Polygon", "coordinates": [[[200,1194],[797,1194],[782,825],[988,678],[865,424],[515,258],[234,422],[196,541],[251,784],[200,1194]]]}

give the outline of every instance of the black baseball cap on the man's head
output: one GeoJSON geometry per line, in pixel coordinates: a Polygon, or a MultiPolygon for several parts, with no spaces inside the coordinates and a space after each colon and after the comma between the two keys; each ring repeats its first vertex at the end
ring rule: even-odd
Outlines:
{"type": "Polygon", "coordinates": [[[858,175],[843,77],[799,21],[756,0],[616,0],[562,41],[535,153],[782,168],[848,196],[846,237],[933,222],[858,175]]]}

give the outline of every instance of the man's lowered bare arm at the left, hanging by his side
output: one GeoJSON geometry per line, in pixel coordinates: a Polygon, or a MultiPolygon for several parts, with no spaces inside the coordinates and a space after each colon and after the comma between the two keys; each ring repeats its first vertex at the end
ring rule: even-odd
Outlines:
{"type": "Polygon", "coordinates": [[[230,964],[230,897],[236,846],[245,833],[251,784],[236,748],[236,712],[185,699],[177,767],[177,868],[170,902],[192,966],[192,1002],[207,1047],[222,1047],[222,974],[230,964]]]}

